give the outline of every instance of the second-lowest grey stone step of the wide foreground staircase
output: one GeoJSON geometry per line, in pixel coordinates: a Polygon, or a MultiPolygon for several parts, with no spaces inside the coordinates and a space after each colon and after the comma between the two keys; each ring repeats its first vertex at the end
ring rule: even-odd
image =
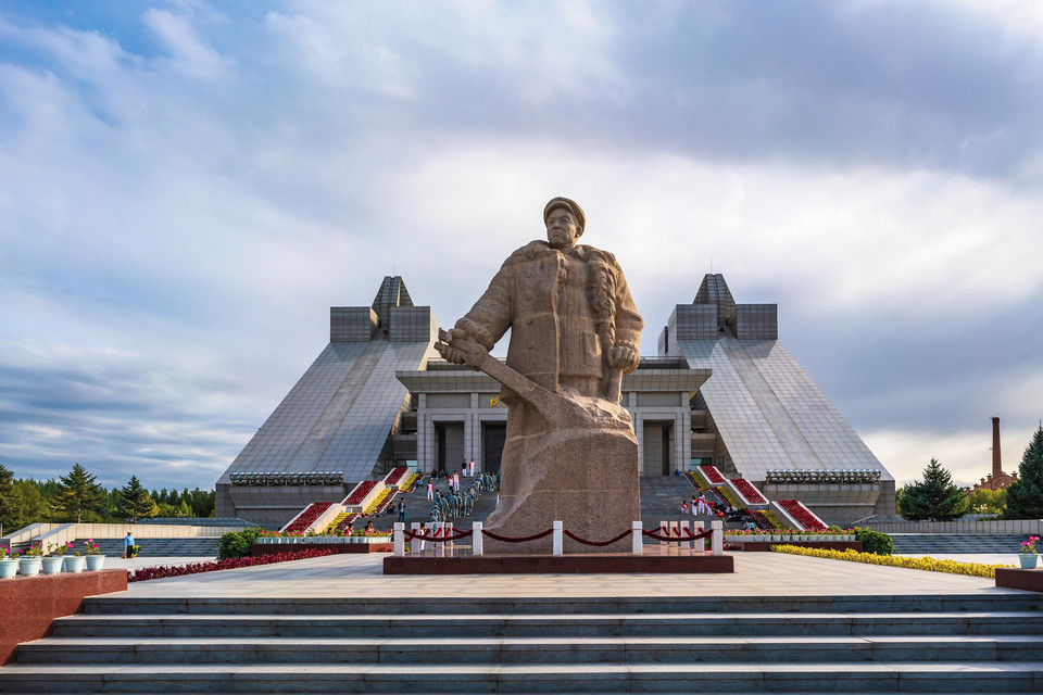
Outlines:
{"type": "Polygon", "coordinates": [[[415,637],[55,637],[22,647],[20,664],[837,664],[1025,661],[1043,636],[456,637],[432,649],[415,637]]]}

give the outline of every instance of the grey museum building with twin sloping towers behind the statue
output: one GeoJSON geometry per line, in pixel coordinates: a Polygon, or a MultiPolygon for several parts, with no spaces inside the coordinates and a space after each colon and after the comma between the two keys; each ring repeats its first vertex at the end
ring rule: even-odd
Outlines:
{"type": "MultiPolygon", "coordinates": [[[[281,525],[395,466],[498,470],[500,384],[442,361],[437,333],[401,277],[369,306],[331,307],[329,344],[218,479],[217,516],[281,525]]],[[[894,509],[894,479],[778,341],[777,306],[737,304],[719,274],[621,392],[642,475],[713,464],[827,521],[894,509]]]]}

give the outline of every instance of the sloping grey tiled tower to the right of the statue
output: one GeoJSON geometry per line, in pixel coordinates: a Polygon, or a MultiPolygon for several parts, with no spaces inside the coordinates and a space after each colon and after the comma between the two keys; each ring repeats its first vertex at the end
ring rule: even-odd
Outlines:
{"type": "Polygon", "coordinates": [[[720,274],[674,309],[659,354],[713,370],[693,400],[692,458],[830,522],[893,514],[894,478],[778,338],[778,306],[737,304],[720,274]]]}

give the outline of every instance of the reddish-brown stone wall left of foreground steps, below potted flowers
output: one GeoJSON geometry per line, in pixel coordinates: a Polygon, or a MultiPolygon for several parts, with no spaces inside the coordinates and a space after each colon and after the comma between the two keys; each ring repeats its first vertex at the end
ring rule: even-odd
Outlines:
{"type": "Polygon", "coordinates": [[[85,596],[126,590],[125,569],[0,580],[0,665],[20,642],[49,635],[55,618],[83,612],[85,596]]]}

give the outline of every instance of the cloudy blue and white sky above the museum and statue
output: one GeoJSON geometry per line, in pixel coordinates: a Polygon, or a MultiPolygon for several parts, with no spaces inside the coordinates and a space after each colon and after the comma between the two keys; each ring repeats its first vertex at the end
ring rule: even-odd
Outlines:
{"type": "Polygon", "coordinates": [[[705,273],[900,482],[1043,417],[1035,0],[0,5],[0,464],[209,488],[392,269],[443,325],[554,195],[642,352],[705,273]]]}

